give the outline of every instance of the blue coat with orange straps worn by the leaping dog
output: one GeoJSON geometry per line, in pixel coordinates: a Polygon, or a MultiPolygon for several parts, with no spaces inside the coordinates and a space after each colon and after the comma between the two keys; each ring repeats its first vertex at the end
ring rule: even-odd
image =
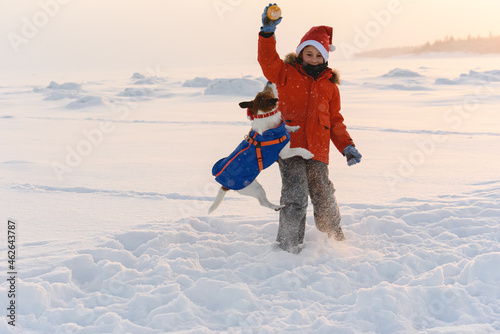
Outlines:
{"type": "MultiPolygon", "coordinates": [[[[253,138],[254,135],[255,131],[252,130],[249,136],[253,138]]],[[[285,135],[286,140],[282,143],[261,147],[264,169],[278,160],[280,151],[290,141],[290,134],[285,128],[285,122],[282,122],[277,128],[269,129],[262,135],[257,134],[255,137],[256,141],[265,142],[279,139],[285,135]]],[[[212,175],[216,176],[215,181],[232,190],[245,188],[257,178],[259,173],[255,145],[250,144],[246,140],[243,140],[231,155],[217,161],[212,168],[212,175]],[[233,160],[231,161],[231,159],[233,160]],[[226,166],[229,161],[231,162],[226,166]],[[223,170],[222,173],[220,173],[221,170],[223,170]],[[219,175],[217,176],[217,174],[219,175]]]]}

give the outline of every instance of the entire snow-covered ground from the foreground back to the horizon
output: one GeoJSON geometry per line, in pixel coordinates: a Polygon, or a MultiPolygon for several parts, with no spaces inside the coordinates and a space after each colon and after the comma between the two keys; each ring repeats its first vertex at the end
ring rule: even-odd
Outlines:
{"type": "MultiPolygon", "coordinates": [[[[299,255],[274,247],[278,214],[252,198],[207,215],[257,64],[2,74],[0,332],[500,332],[499,64],[337,62],[363,159],[332,146],[347,240],[309,207],[299,255]]],[[[279,202],[278,167],[259,181],[279,202]]]]}

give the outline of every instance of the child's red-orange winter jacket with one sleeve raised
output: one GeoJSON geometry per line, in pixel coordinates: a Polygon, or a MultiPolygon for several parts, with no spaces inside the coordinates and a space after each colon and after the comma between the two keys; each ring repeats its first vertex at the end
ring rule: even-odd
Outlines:
{"type": "Polygon", "coordinates": [[[306,148],[313,159],[328,164],[330,139],[341,153],[354,145],[340,114],[335,72],[327,68],[314,80],[297,62],[285,63],[276,52],[274,36],[259,35],[258,60],[264,76],[278,89],[278,109],[286,124],[300,125],[290,134],[291,147],[306,148]]]}

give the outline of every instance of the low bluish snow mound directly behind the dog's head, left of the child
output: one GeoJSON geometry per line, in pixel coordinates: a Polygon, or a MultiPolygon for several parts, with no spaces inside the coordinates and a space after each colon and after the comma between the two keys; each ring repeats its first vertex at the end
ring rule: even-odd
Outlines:
{"type": "Polygon", "coordinates": [[[250,78],[215,79],[205,89],[205,94],[254,96],[263,88],[264,83],[262,80],[250,78]]]}

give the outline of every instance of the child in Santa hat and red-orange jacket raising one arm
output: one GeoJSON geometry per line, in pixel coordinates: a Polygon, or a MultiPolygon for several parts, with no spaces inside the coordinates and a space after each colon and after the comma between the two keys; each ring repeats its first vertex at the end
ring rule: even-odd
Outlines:
{"type": "MultiPolygon", "coordinates": [[[[271,4],[269,5],[271,6],[271,4]]],[[[279,159],[282,178],[277,242],[280,248],[298,254],[304,241],[308,196],[313,204],[316,227],[336,240],[345,240],[335,188],[328,177],[330,140],[347,158],[349,166],[361,161],[361,154],[344,125],[340,114],[338,74],[328,67],[333,51],[333,29],[311,28],[300,41],[296,54],[281,60],[276,52],[274,31],[281,22],[264,20],[259,33],[258,61],[264,76],[278,89],[278,108],[287,125],[300,125],[291,133],[291,147],[303,147],[314,154],[279,159]]]]}

